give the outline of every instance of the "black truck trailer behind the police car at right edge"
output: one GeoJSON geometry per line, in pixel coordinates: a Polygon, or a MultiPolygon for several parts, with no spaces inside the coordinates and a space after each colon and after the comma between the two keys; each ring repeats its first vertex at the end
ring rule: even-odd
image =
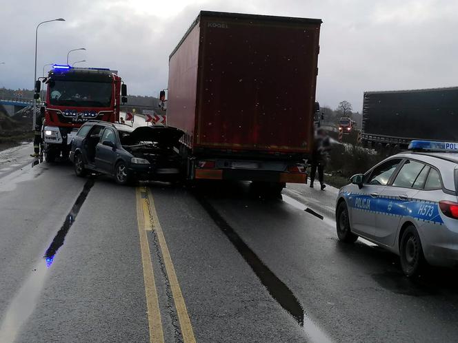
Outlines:
{"type": "Polygon", "coordinates": [[[365,92],[364,144],[407,147],[415,139],[458,141],[458,87],[365,92]]]}

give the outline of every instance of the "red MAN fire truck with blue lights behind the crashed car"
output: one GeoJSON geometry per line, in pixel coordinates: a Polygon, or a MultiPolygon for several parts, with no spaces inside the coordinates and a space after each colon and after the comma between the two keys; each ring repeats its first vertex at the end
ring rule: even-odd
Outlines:
{"type": "Polygon", "coordinates": [[[43,142],[47,162],[68,157],[72,138],[86,121],[119,121],[119,105],[127,101],[126,85],[117,71],[108,68],[54,65],[44,82],[43,142]]]}

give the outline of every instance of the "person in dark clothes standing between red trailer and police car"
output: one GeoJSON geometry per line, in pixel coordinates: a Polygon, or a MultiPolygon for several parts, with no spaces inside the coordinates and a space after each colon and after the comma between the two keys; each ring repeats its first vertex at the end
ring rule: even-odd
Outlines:
{"type": "Polygon", "coordinates": [[[324,184],[324,167],[329,158],[329,152],[331,149],[330,138],[325,129],[319,127],[315,134],[315,141],[313,144],[312,151],[312,163],[310,171],[310,188],[313,188],[313,182],[315,181],[315,174],[318,169],[318,180],[321,185],[321,190],[326,188],[324,184]]]}

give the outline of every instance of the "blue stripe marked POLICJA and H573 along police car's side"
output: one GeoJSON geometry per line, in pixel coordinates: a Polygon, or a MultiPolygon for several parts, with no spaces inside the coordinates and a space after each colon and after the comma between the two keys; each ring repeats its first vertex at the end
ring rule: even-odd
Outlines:
{"type": "Polygon", "coordinates": [[[365,194],[344,194],[350,207],[361,211],[370,211],[389,216],[410,216],[418,220],[444,223],[440,215],[437,202],[409,199],[401,200],[397,197],[372,198],[365,194]]]}

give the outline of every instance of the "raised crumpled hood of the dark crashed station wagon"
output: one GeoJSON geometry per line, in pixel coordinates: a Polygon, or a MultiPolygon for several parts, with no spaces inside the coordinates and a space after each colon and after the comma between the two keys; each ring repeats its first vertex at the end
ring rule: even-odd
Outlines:
{"type": "Polygon", "coordinates": [[[141,126],[137,127],[130,134],[130,141],[151,141],[159,145],[176,145],[183,136],[184,132],[181,129],[171,126],[141,126]]]}

